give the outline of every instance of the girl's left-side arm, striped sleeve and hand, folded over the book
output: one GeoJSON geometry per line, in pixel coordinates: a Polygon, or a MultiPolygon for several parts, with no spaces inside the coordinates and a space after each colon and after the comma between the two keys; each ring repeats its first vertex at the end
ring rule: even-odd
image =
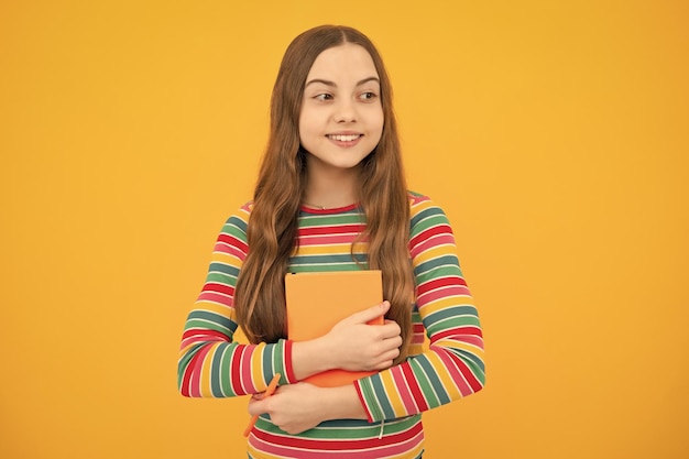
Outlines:
{"type": "Polygon", "coordinates": [[[177,364],[177,385],[185,396],[229,397],[265,391],[276,373],[281,385],[297,382],[331,368],[387,368],[396,358],[400,328],[396,324],[371,327],[364,324],[385,314],[389,305],[339,324],[333,332],[313,341],[240,345],[233,298],[237,277],[248,253],[247,225],[251,208],[244,206],[222,228],[215,245],[206,283],[189,313],[177,364]],[[352,336],[359,351],[348,350],[352,336]],[[380,346],[369,346],[371,342],[380,346]],[[333,359],[335,357],[335,359],[333,359]],[[364,362],[364,363],[362,363],[364,362]]]}

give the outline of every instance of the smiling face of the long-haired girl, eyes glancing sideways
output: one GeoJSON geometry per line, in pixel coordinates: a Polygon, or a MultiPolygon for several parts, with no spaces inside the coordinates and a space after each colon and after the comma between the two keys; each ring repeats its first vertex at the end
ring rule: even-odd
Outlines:
{"type": "Polygon", "coordinates": [[[299,114],[309,170],[352,170],[382,132],[381,86],[369,53],[351,43],[320,53],[306,77],[299,114]]]}

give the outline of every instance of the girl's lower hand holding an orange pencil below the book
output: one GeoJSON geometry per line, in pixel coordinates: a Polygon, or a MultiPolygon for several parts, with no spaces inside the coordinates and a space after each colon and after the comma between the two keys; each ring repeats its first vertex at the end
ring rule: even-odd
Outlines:
{"type": "Polygon", "coordinates": [[[249,414],[267,413],[273,424],[287,434],[296,435],[326,420],[322,391],[308,383],[280,386],[272,396],[252,396],[249,414]]]}

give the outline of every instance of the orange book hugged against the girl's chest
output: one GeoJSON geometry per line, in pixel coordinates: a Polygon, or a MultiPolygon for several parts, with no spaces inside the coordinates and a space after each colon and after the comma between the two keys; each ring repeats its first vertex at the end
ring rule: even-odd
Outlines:
{"type": "MultiPolygon", "coordinates": [[[[287,337],[306,341],[326,335],[340,320],[383,302],[379,270],[285,275],[287,337]]],[[[370,325],[383,325],[381,316],[370,325]]],[[[374,371],[329,370],[304,380],[321,387],[347,385],[374,371]]]]}

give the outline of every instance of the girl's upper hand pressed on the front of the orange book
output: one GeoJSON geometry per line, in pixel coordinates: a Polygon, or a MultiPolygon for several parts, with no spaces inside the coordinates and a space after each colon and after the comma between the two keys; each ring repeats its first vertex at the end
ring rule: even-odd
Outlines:
{"type": "Polygon", "coordinates": [[[402,337],[400,326],[393,320],[384,325],[367,325],[383,316],[390,303],[383,302],[361,313],[340,320],[322,337],[336,368],[350,371],[374,371],[392,367],[400,356],[402,337]]]}

